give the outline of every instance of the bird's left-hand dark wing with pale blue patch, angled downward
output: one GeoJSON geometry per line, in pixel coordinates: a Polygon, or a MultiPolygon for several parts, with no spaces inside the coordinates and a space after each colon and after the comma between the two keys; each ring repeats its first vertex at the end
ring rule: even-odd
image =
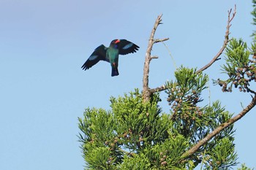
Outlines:
{"type": "MultiPolygon", "coordinates": [[[[88,60],[86,61],[86,63],[83,64],[83,66],[81,66],[82,69],[86,70],[86,69],[90,69],[91,66],[94,66],[96,63],[98,63],[100,60],[102,61],[108,61],[106,59],[106,51],[108,50],[107,47],[105,47],[104,45],[99,45],[99,47],[97,47],[94,50],[94,53],[92,53],[90,55],[90,57],[88,58],[88,60]]],[[[109,61],[108,61],[109,62],[109,61]]]]}

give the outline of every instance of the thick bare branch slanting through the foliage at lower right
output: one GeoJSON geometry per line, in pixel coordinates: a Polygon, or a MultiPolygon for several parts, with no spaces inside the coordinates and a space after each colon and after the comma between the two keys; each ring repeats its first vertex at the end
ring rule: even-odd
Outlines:
{"type": "Polygon", "coordinates": [[[247,112],[249,112],[253,107],[255,107],[255,105],[256,105],[256,96],[254,96],[252,98],[251,103],[246,108],[244,108],[240,113],[238,113],[238,115],[236,115],[235,117],[232,117],[230,120],[227,120],[227,122],[222,123],[221,125],[219,125],[218,128],[215,128],[214,131],[212,131],[205,138],[203,138],[199,142],[197,142],[197,144],[195,144],[193,147],[191,147],[189,150],[187,150],[187,152],[184,152],[184,154],[181,155],[180,162],[184,161],[186,158],[188,158],[189,156],[194,154],[200,147],[203,146],[203,144],[206,144],[214,136],[219,134],[220,131],[222,131],[223,129],[225,129],[228,126],[232,125],[237,120],[241,119],[241,117],[244,117],[244,115],[246,115],[247,112]]]}

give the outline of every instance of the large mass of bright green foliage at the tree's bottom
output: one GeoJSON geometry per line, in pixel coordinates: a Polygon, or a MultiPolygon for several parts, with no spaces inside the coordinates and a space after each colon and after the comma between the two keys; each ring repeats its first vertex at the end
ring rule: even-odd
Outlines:
{"type": "Polygon", "coordinates": [[[110,111],[86,109],[84,117],[79,118],[86,168],[194,169],[206,157],[205,168],[235,165],[233,125],[181,161],[186,150],[231,117],[219,101],[198,106],[207,81],[208,76],[197,74],[195,69],[178,69],[176,80],[166,82],[171,105],[168,114],[159,107],[158,94],[144,103],[138,89],[124,97],[110,98],[110,111]],[[211,163],[219,159],[218,165],[211,163]]]}

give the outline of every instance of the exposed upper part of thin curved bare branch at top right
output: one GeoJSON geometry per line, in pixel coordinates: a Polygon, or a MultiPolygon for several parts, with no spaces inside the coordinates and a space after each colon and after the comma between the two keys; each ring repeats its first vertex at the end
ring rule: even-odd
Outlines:
{"type": "Polygon", "coordinates": [[[214,58],[212,58],[210,63],[206,64],[206,66],[203,66],[201,69],[197,70],[197,73],[203,72],[203,70],[208,69],[208,67],[211,66],[211,64],[213,64],[215,61],[218,61],[220,59],[219,56],[222,55],[223,51],[227,47],[227,43],[229,42],[229,37],[228,36],[230,34],[231,21],[233,20],[233,18],[236,15],[236,5],[235,5],[235,9],[234,9],[234,12],[233,12],[231,18],[230,18],[230,14],[232,12],[232,9],[228,10],[227,12],[228,12],[227,26],[226,26],[225,39],[224,39],[223,45],[222,45],[221,49],[219,50],[219,52],[217,53],[217,55],[215,55],[214,58]]]}

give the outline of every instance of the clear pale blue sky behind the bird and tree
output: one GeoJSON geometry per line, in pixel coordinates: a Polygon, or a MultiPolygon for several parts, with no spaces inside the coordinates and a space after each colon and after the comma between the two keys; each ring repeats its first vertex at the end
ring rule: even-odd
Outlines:
{"type": "MultiPolygon", "coordinates": [[[[177,66],[201,67],[222,46],[227,10],[237,5],[231,35],[250,43],[251,1],[83,1],[0,0],[0,169],[83,169],[78,117],[87,107],[110,109],[110,96],[142,88],[148,37],[163,14],[156,38],[169,37],[177,66]],[[128,39],[138,53],[120,56],[118,77],[100,62],[84,72],[80,66],[101,44],[128,39]]],[[[173,78],[174,64],[165,46],[154,46],[150,87],[173,78]]],[[[223,58],[223,56],[222,56],[223,58]]],[[[214,63],[206,73],[223,77],[214,63]]],[[[211,101],[240,112],[246,93],[222,93],[211,85],[211,101]]],[[[165,93],[161,106],[168,112],[165,93]]],[[[205,96],[208,96],[206,90],[205,96]]],[[[208,98],[206,98],[208,102],[208,98]]],[[[236,123],[238,161],[256,167],[255,109],[236,123]]]]}

